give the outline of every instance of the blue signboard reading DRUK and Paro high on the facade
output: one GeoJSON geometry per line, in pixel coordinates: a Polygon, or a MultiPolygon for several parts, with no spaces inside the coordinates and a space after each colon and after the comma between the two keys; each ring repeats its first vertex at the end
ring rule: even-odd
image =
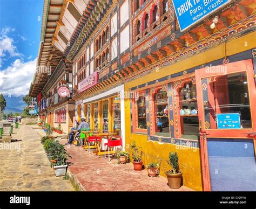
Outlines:
{"type": "Polygon", "coordinates": [[[196,24],[231,0],[173,0],[180,31],[196,24]]]}

